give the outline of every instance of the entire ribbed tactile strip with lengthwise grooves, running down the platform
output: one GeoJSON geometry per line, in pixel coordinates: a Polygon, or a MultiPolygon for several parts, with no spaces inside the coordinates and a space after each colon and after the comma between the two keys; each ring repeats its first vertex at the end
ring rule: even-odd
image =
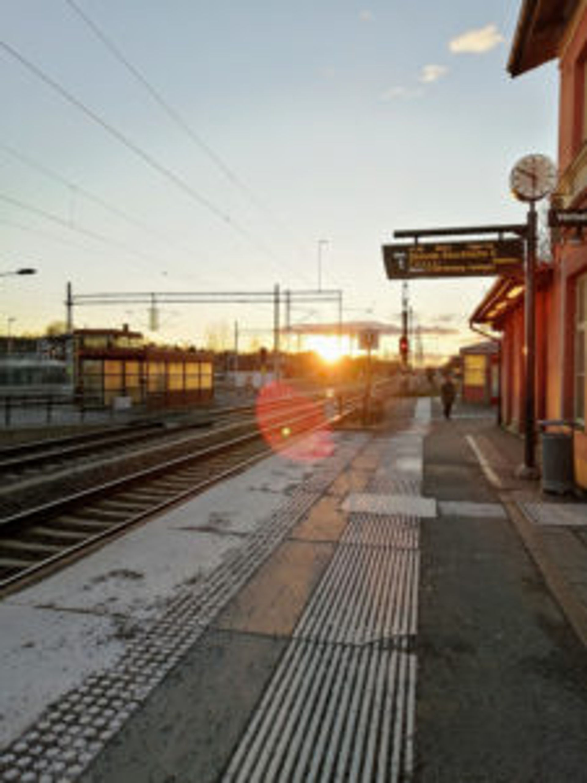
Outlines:
{"type": "MultiPolygon", "coordinates": [[[[425,412],[424,412],[425,413],[425,412]]],[[[412,776],[420,520],[385,498],[423,500],[425,428],[369,449],[372,503],[348,527],[234,752],[223,781],[400,781],[412,776]],[[411,461],[410,461],[411,460],[411,461]],[[409,491],[405,491],[408,489],[409,491]],[[388,505],[388,503],[387,503],[388,505]],[[372,513],[369,513],[371,511],[372,513]]],[[[367,494],[367,493],[365,493],[367,494]]]]}

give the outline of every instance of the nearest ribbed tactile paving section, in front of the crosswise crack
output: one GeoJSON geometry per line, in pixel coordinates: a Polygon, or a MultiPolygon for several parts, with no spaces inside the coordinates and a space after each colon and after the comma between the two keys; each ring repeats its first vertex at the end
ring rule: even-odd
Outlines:
{"type": "Polygon", "coordinates": [[[224,781],[400,780],[413,763],[416,656],[398,647],[291,644],[224,781]]]}

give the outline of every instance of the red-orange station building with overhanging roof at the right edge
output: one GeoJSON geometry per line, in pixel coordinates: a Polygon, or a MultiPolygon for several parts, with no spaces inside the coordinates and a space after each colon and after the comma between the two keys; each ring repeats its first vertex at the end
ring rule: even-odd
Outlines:
{"type": "MultiPolygon", "coordinates": [[[[557,211],[587,210],[587,2],[524,0],[510,52],[513,77],[560,67],[557,211]]],[[[586,215],[587,216],[587,215],[586,215]]],[[[575,482],[587,489],[587,229],[553,229],[553,258],[538,263],[536,417],[574,424],[575,482]]],[[[524,286],[499,278],[471,322],[502,332],[501,417],[524,426],[524,286]]]]}

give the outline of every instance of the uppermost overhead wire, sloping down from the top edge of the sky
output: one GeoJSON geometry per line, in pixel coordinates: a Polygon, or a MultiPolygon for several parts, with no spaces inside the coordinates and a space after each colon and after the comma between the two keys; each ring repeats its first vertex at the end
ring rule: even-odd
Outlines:
{"type": "MultiPolygon", "coordinates": [[[[181,128],[183,132],[191,139],[191,141],[200,148],[200,150],[203,151],[207,155],[207,157],[210,158],[210,160],[214,163],[214,165],[222,171],[222,173],[225,175],[227,179],[229,179],[229,182],[232,183],[233,186],[235,186],[237,189],[239,189],[242,193],[246,195],[248,200],[252,204],[254,204],[257,209],[261,210],[274,224],[277,226],[280,230],[286,230],[285,226],[283,226],[283,222],[277,218],[272,210],[270,210],[254,193],[253,189],[250,188],[246,184],[246,182],[243,182],[243,179],[241,179],[238,175],[236,175],[235,171],[232,170],[232,168],[225,163],[225,161],[221,158],[221,156],[211,148],[211,146],[206,143],[199,134],[197,134],[192,126],[185,121],[184,117],[182,117],[182,114],[178,112],[177,109],[175,109],[174,106],[171,106],[171,103],[169,103],[164,96],[161,95],[161,92],[157,90],[153,85],[150,83],[150,81],[146,78],[144,74],[137,68],[133,63],[128,60],[128,57],[124,55],[124,53],[121,50],[121,47],[117,44],[115,44],[110,38],[109,35],[106,35],[106,33],[103,31],[101,27],[97,23],[95,23],[94,20],[90,16],[88,16],[88,13],[86,13],[84,10],[80,8],[80,6],[77,4],[77,2],[74,2],[74,0],[64,0],[64,2],[70,6],[70,9],[74,11],[74,13],[77,14],[77,16],[90,28],[93,34],[95,34],[96,38],[99,38],[99,41],[102,42],[102,44],[108,49],[108,51],[112,54],[112,56],[119,62],[121,65],[128,70],[132,76],[139,81],[139,84],[142,85],[142,87],[146,90],[146,92],[149,93],[149,96],[157,103],[158,106],[164,111],[165,114],[167,114],[167,117],[173,121],[178,128],[181,128]]],[[[290,233],[288,231],[288,233],[290,233]]],[[[291,235],[290,235],[291,236],[291,235]]],[[[299,240],[296,240],[296,244],[298,244],[299,240]]],[[[301,251],[306,254],[306,251],[301,248],[301,251]]],[[[297,274],[300,274],[299,271],[296,272],[297,274]]],[[[301,274],[301,276],[306,277],[306,275],[301,274]]]]}

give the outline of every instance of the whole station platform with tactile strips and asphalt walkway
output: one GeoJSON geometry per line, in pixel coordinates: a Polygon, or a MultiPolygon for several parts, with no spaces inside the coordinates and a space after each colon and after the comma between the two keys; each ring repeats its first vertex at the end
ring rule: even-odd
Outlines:
{"type": "Polygon", "coordinates": [[[387,414],[2,601],[0,780],[581,779],[585,506],[511,478],[484,412],[387,414]]]}

